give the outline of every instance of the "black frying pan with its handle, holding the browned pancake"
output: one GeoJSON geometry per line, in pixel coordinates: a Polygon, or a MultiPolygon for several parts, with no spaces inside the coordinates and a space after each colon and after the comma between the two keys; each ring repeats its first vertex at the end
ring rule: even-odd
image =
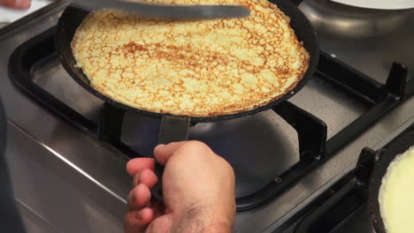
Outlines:
{"type": "MultiPolygon", "coordinates": [[[[72,54],[71,42],[76,29],[80,26],[80,23],[88,15],[88,11],[69,6],[62,13],[58,21],[57,35],[56,35],[56,48],[58,51],[59,59],[70,74],[70,76],[80,85],[83,86],[88,92],[95,94],[103,101],[110,103],[119,109],[125,109],[126,111],[138,112],[146,116],[153,116],[162,118],[161,130],[159,142],[167,144],[173,141],[182,141],[188,139],[188,128],[189,122],[211,122],[234,119],[242,116],[249,116],[256,114],[257,112],[271,109],[278,103],[288,100],[292,95],[296,94],[306,82],[312,78],[318,65],[319,48],[316,33],[311,26],[311,22],[304,16],[303,12],[300,11],[295,4],[288,0],[271,0],[272,4],[276,4],[280,11],[283,11],[290,18],[290,26],[294,29],[295,34],[299,41],[303,41],[303,46],[308,50],[311,59],[308,70],[303,75],[303,78],[297,83],[297,85],[290,90],[288,93],[281,96],[281,98],[268,103],[265,106],[258,107],[256,109],[250,109],[244,112],[221,115],[221,116],[173,116],[170,114],[162,114],[157,112],[150,112],[143,109],[136,109],[133,107],[126,106],[119,101],[115,101],[94,89],[90,86],[90,82],[87,76],[83,73],[80,68],[75,67],[76,61],[72,54]]],[[[163,169],[159,164],[156,164],[155,171],[157,177],[162,177],[163,169]]],[[[153,192],[156,198],[160,199],[162,196],[161,192],[162,184],[158,182],[154,188],[157,192],[153,192]]]]}

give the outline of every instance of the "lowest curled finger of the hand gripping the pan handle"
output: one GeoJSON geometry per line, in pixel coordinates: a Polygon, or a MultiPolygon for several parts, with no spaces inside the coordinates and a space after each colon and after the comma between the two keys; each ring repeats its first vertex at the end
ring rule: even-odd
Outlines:
{"type": "Polygon", "coordinates": [[[154,211],[149,207],[145,207],[139,211],[131,211],[125,217],[125,232],[141,233],[152,220],[154,220],[154,211]]]}

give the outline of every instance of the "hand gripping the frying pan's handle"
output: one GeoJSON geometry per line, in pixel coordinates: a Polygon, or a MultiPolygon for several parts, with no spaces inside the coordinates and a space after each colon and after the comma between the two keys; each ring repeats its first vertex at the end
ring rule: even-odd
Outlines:
{"type": "Polygon", "coordinates": [[[157,183],[154,160],[133,159],[126,170],[134,177],[128,196],[126,233],[230,233],[235,214],[234,171],[202,142],[173,142],[154,149],[165,164],[164,205],[151,200],[157,183]]]}

